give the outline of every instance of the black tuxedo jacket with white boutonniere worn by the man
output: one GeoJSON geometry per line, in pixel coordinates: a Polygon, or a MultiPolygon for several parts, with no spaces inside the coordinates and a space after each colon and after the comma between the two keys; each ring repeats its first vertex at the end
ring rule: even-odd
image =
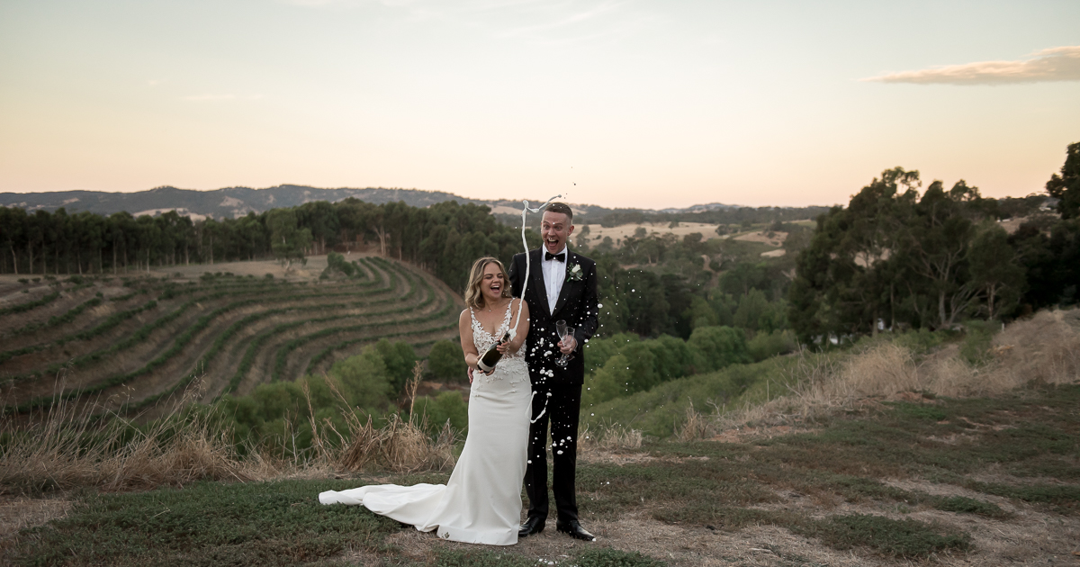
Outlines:
{"type": "MultiPolygon", "coordinates": [[[[563,288],[555,303],[555,312],[548,309],[548,286],[543,281],[543,269],[540,262],[543,249],[529,251],[529,285],[523,298],[529,306],[529,336],[523,348],[525,362],[529,366],[529,377],[534,384],[582,384],[585,381],[585,356],[582,350],[585,340],[596,333],[598,311],[596,298],[596,262],[567,249],[566,273],[569,275],[575,265],[581,266],[581,280],[569,278],[563,282],[563,288]],[[573,359],[559,368],[555,359],[562,352],[558,350],[558,334],[555,333],[555,322],[566,320],[573,327],[573,338],[578,348],[573,359]]],[[[510,262],[510,285],[514,297],[522,297],[525,287],[525,254],[517,254],[510,262]]]]}

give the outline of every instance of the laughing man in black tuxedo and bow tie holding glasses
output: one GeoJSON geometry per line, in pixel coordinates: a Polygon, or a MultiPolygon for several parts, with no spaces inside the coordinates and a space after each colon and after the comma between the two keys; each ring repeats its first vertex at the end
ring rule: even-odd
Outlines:
{"type": "MultiPolygon", "coordinates": [[[[586,541],[596,538],[578,521],[575,467],[578,460],[578,411],[585,365],[582,346],[596,332],[596,262],[567,249],[573,233],[573,212],[564,203],[548,205],[540,221],[543,245],[530,251],[529,285],[524,300],[529,306],[529,336],[525,362],[532,381],[532,419],[529,428],[529,460],[525,491],[529,497],[528,519],[517,537],[543,531],[548,519],[548,422],[552,438],[552,491],[555,495],[555,528],[586,541]],[[573,335],[559,341],[555,322],[565,320],[573,335]],[[561,354],[572,354],[565,368],[555,364],[561,354]],[[539,418],[538,418],[539,416],[539,418]]],[[[508,270],[514,297],[525,285],[525,254],[514,256],[508,270]]]]}

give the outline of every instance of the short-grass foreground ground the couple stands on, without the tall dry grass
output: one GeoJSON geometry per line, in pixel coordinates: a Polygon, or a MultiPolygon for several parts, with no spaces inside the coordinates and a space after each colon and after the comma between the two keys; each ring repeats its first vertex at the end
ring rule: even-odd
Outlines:
{"type": "MultiPolygon", "coordinates": [[[[579,463],[596,543],[438,540],[319,491],[445,473],[195,483],[9,499],[60,517],[9,532],[14,565],[1034,565],[1080,535],[1080,386],[919,397],[738,441],[594,444],[579,463]]],[[[549,526],[552,527],[552,526],[549,526]]]]}

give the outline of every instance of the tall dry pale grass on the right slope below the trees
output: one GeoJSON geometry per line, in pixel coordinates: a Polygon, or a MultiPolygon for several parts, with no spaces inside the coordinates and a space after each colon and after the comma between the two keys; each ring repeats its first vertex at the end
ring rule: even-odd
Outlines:
{"type": "MultiPolygon", "coordinates": [[[[723,416],[715,414],[712,421],[721,430],[750,422],[802,422],[837,410],[874,406],[882,400],[910,397],[912,392],[986,396],[1030,382],[1075,383],[1080,380],[1078,327],[1078,309],[1041,311],[995,336],[994,357],[982,366],[964,361],[955,345],[922,361],[894,342],[876,343],[839,362],[801,352],[794,368],[781,379],[786,395],[723,416]]],[[[692,432],[703,430],[702,419],[696,413],[688,415],[680,438],[694,438],[692,432]]]]}

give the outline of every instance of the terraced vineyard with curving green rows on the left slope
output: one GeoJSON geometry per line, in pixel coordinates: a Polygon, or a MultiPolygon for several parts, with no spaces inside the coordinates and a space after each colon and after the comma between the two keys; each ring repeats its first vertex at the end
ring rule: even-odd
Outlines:
{"type": "Polygon", "coordinates": [[[3,281],[6,411],[41,407],[60,390],[135,410],[197,384],[208,402],[325,372],[382,338],[422,354],[457,336],[461,299],[411,266],[366,256],[357,276],[319,280],[256,276],[257,265],[273,266],[230,265],[247,275],[199,275],[207,267],[190,267],[157,276],[3,281]]]}

